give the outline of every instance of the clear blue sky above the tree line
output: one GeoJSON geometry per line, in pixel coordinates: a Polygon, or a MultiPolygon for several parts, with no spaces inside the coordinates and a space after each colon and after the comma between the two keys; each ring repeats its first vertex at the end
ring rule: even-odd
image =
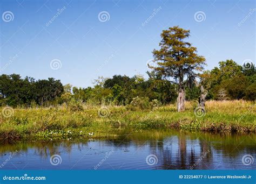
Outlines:
{"type": "Polygon", "coordinates": [[[93,86],[98,76],[144,75],[160,33],[190,30],[205,69],[255,63],[255,1],[1,0],[0,74],[93,86]]]}

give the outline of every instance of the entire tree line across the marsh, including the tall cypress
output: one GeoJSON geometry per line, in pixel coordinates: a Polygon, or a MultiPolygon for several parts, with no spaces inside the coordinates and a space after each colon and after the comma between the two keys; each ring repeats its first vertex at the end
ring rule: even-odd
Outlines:
{"type": "Polygon", "coordinates": [[[35,80],[18,74],[0,76],[0,104],[52,105],[71,100],[94,104],[127,105],[135,97],[159,104],[177,102],[178,111],[184,101],[251,100],[255,101],[256,72],[253,63],[240,66],[232,59],[220,61],[212,70],[204,70],[205,58],[186,40],[190,31],[178,26],[161,33],[159,50],[154,49],[156,65],[149,66],[146,79],[142,75],[99,77],[95,86],[87,88],[63,85],[60,80],[35,80]]]}

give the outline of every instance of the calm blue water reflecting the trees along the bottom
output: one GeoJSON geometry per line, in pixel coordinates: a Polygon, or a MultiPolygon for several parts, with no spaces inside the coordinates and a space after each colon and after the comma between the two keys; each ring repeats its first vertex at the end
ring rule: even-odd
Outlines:
{"type": "Polygon", "coordinates": [[[2,144],[0,164],[0,169],[256,169],[256,135],[150,130],[108,140],[2,144]]]}

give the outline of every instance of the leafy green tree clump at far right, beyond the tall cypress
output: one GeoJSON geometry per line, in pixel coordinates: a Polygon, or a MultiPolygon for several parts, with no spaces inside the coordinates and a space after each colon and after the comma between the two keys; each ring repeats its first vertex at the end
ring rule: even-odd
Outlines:
{"type": "Polygon", "coordinates": [[[208,99],[255,100],[255,69],[245,69],[233,60],[220,61],[219,67],[201,75],[201,84],[208,90],[208,99]]]}

